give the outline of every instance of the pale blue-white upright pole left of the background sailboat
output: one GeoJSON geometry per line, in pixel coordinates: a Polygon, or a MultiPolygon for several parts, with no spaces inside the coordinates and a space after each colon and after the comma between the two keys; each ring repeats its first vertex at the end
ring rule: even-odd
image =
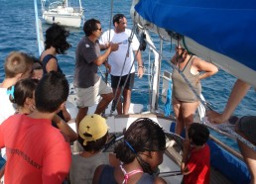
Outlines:
{"type": "MultiPolygon", "coordinates": [[[[41,20],[39,19],[39,14],[38,14],[37,0],[34,0],[34,7],[35,7],[35,21],[36,21],[36,32],[37,32],[39,55],[41,55],[42,51],[44,50],[44,38],[43,38],[43,32],[42,32],[42,23],[41,23],[41,20]]],[[[43,8],[43,4],[42,4],[42,8],[43,8]]]]}

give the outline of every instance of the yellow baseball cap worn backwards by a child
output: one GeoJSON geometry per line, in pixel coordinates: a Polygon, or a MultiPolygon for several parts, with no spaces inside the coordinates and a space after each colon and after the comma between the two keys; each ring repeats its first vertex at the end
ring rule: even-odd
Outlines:
{"type": "Polygon", "coordinates": [[[83,145],[87,144],[87,141],[97,140],[106,135],[108,127],[106,120],[100,115],[87,115],[85,116],[80,124],[78,129],[78,135],[80,138],[83,138],[83,145]]]}

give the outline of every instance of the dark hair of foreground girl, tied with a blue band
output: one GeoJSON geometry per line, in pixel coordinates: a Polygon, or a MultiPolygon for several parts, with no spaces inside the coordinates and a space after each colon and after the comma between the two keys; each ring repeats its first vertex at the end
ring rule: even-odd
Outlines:
{"type": "Polygon", "coordinates": [[[139,153],[164,149],[166,149],[166,136],[163,129],[151,119],[141,118],[124,132],[124,141],[115,146],[114,152],[124,164],[131,163],[136,158],[144,172],[152,174],[151,166],[139,153]]]}

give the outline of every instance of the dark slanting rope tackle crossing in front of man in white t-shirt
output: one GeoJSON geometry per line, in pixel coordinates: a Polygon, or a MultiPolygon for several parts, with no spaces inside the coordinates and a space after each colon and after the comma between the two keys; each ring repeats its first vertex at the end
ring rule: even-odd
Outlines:
{"type": "MultiPolygon", "coordinates": [[[[121,78],[122,78],[122,75],[123,75],[123,70],[124,70],[124,66],[125,66],[125,63],[126,63],[126,60],[127,60],[127,55],[129,54],[129,51],[130,51],[130,46],[131,46],[131,43],[132,43],[132,40],[133,40],[133,37],[134,37],[134,30],[135,30],[135,26],[133,26],[133,30],[130,34],[130,37],[128,38],[128,48],[127,48],[127,51],[126,51],[126,56],[124,58],[124,63],[123,63],[123,66],[122,66],[122,70],[121,70],[121,74],[120,74],[120,77],[119,77],[119,80],[118,80],[118,83],[117,83],[117,87],[116,89],[119,89],[119,86],[120,86],[120,82],[121,82],[121,78]]],[[[139,49],[139,48],[138,48],[139,49]]],[[[138,51],[138,50],[137,50],[138,51]]],[[[137,55],[137,52],[136,52],[136,55],[137,55]]],[[[134,60],[135,60],[136,56],[134,57],[134,60]]],[[[124,83],[124,86],[126,85],[126,81],[128,80],[128,77],[130,76],[130,72],[131,72],[131,69],[133,67],[133,64],[134,64],[134,60],[133,60],[133,63],[130,67],[130,70],[129,70],[129,73],[126,77],[126,80],[125,80],[125,83],[124,83]]],[[[119,94],[118,96],[118,99],[116,100],[116,97],[117,97],[117,91],[115,91],[115,95],[114,95],[114,100],[112,102],[112,108],[111,108],[111,111],[110,111],[110,116],[113,115],[113,112],[115,111],[118,103],[119,103],[119,100],[120,100],[120,97],[121,97],[121,94],[123,92],[123,87],[121,88],[121,93],[119,94]]]]}

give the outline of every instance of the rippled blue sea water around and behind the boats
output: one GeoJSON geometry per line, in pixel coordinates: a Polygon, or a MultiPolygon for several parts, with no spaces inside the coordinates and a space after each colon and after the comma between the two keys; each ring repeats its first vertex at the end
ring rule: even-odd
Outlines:
{"type": "MultiPolygon", "coordinates": [[[[37,46],[36,36],[36,20],[34,1],[10,1],[1,0],[0,2],[0,82],[4,78],[4,60],[7,54],[13,50],[25,51],[29,54],[39,56],[39,50],[37,46]]],[[[85,20],[90,18],[98,19],[101,22],[103,32],[112,28],[112,20],[110,19],[116,13],[123,13],[127,16],[128,27],[133,28],[133,21],[130,17],[131,0],[113,0],[113,6],[111,7],[111,0],[93,0],[82,1],[84,8],[85,20]],[[111,13],[111,9],[113,10],[111,13]]],[[[41,2],[38,1],[39,17],[42,18],[41,2]]],[[[43,31],[49,28],[43,21],[43,31]]],[[[58,55],[60,65],[67,76],[69,82],[72,81],[74,71],[74,54],[75,47],[81,37],[84,36],[82,27],[80,29],[70,29],[70,36],[68,42],[71,44],[65,55],[58,55]]],[[[45,33],[44,33],[45,34],[45,33]]],[[[155,43],[160,40],[157,35],[151,34],[155,43]]],[[[159,48],[159,45],[156,45],[159,48]]],[[[162,70],[172,72],[170,65],[170,58],[174,54],[174,46],[171,43],[164,43],[163,46],[163,61],[162,70]]],[[[144,64],[148,63],[148,54],[143,53],[144,64]]],[[[104,67],[100,67],[102,72],[105,72],[104,67]]],[[[146,73],[149,71],[146,71],[146,73]]],[[[225,73],[221,69],[217,74],[209,78],[203,79],[202,94],[206,101],[212,104],[212,107],[217,112],[222,112],[227,99],[229,97],[230,90],[235,82],[235,78],[225,73]]],[[[144,76],[142,79],[135,78],[135,86],[132,93],[132,102],[149,104],[149,97],[145,94],[149,94],[149,77],[144,76]]],[[[247,96],[242,100],[240,105],[234,112],[237,116],[255,115],[256,110],[256,93],[254,89],[251,89],[247,96]]],[[[160,109],[164,107],[164,104],[160,101],[160,109]]],[[[229,144],[234,144],[235,141],[227,139],[229,144]]],[[[236,146],[236,145],[235,145],[236,146]]]]}

